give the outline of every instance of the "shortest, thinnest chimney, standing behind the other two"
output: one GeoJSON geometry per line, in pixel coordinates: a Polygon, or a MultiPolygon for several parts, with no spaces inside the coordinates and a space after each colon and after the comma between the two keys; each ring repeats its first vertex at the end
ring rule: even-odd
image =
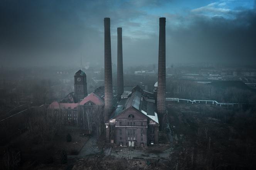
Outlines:
{"type": "Polygon", "coordinates": [[[122,28],[117,28],[117,93],[123,94],[123,43],[122,28]]]}

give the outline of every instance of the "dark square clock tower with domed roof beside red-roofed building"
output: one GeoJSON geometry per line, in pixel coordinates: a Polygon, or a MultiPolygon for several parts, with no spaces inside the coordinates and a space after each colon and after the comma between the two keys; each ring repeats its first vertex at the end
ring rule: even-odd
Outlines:
{"type": "Polygon", "coordinates": [[[87,96],[86,74],[82,70],[78,70],[74,75],[75,99],[77,102],[87,96]]]}

